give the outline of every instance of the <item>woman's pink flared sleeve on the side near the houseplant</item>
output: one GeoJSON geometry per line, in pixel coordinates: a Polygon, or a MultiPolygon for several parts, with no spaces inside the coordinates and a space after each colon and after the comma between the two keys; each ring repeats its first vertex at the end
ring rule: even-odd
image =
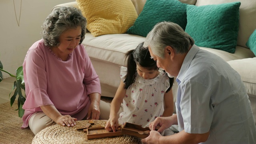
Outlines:
{"type": "MultiPolygon", "coordinates": [[[[37,44],[35,46],[42,45],[37,44]]],[[[46,92],[46,66],[43,51],[40,51],[39,48],[28,50],[23,63],[23,70],[26,87],[26,101],[23,109],[34,111],[40,106],[53,105],[46,92]]]]}

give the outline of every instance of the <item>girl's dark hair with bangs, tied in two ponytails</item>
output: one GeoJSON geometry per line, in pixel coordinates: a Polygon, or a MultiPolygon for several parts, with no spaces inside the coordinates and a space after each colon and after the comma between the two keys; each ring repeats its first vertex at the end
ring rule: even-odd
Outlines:
{"type": "MultiPolygon", "coordinates": [[[[148,70],[158,70],[156,65],[156,61],[154,61],[151,56],[148,48],[143,47],[144,42],[140,43],[135,50],[130,50],[125,54],[127,60],[127,74],[124,80],[124,88],[128,89],[136,79],[136,67],[138,65],[142,66],[143,68],[147,68],[148,70]]],[[[166,92],[168,92],[173,85],[174,78],[170,79],[170,87],[166,92]]]]}

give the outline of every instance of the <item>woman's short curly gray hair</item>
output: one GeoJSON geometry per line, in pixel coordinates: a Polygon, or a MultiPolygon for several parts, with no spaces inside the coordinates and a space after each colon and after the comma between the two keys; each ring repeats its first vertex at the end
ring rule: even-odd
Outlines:
{"type": "Polygon", "coordinates": [[[82,27],[81,39],[79,44],[84,40],[86,33],[87,20],[82,12],[75,7],[56,8],[44,21],[41,36],[46,46],[59,46],[60,35],[68,29],[82,27]]]}

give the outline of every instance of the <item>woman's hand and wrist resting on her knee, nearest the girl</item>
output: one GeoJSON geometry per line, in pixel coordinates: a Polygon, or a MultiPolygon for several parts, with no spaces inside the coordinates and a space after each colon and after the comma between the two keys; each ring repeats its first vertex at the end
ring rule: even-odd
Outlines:
{"type": "Polygon", "coordinates": [[[100,103],[98,101],[91,101],[87,120],[90,118],[92,120],[98,120],[100,118],[100,103]]]}

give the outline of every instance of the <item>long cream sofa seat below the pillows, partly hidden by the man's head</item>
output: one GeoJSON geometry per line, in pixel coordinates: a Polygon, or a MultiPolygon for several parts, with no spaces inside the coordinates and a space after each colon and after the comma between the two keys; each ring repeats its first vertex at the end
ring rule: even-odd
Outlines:
{"type": "MultiPolygon", "coordinates": [[[[145,37],[133,34],[108,34],[94,37],[90,32],[87,32],[82,44],[90,58],[124,66],[124,54],[135,49],[138,44],[144,41],[145,37]]],[[[217,54],[226,61],[254,57],[250,49],[241,46],[237,46],[234,54],[213,48],[200,48],[217,54]]]]}

